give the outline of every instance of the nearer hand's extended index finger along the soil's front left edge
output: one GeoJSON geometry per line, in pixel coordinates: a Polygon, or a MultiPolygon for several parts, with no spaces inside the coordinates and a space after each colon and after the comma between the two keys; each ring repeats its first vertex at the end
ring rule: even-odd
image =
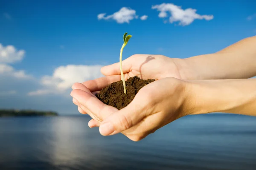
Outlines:
{"type": "Polygon", "coordinates": [[[105,105],[96,96],[94,96],[93,94],[89,94],[85,91],[76,89],[73,90],[70,95],[78,100],[78,102],[81,105],[81,108],[82,106],[84,106],[88,109],[88,111],[93,113],[97,120],[104,120],[111,113],[118,111],[117,108],[105,105]]]}

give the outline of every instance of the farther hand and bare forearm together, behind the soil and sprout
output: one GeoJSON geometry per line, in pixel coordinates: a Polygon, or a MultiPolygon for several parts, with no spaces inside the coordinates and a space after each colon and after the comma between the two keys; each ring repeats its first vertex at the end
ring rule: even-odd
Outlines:
{"type": "MultiPolygon", "coordinates": [[[[186,80],[246,79],[256,76],[256,36],[245,38],[213,54],[186,59],[163,55],[135,54],[122,61],[125,80],[175,77],[186,80]]],[[[105,77],[83,84],[90,91],[99,91],[108,84],[121,80],[119,62],[102,67],[105,77]]]]}

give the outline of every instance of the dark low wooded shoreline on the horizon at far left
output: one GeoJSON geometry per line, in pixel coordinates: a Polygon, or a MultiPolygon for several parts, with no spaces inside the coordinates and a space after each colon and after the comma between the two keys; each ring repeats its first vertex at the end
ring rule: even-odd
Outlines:
{"type": "Polygon", "coordinates": [[[0,117],[21,117],[21,116],[58,116],[58,113],[53,111],[0,109],[0,117]]]}

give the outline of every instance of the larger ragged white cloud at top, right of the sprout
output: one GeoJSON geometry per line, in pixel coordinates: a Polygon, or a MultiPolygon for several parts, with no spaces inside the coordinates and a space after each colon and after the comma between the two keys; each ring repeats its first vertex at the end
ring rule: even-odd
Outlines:
{"type": "Polygon", "coordinates": [[[160,5],[152,6],[152,9],[160,11],[158,17],[165,18],[169,17],[169,22],[179,22],[180,26],[187,26],[194,20],[212,20],[213,15],[200,15],[196,13],[196,9],[186,8],[182,9],[181,6],[176,6],[172,3],[162,3],[160,5]],[[169,12],[169,14],[167,14],[169,12]]]}

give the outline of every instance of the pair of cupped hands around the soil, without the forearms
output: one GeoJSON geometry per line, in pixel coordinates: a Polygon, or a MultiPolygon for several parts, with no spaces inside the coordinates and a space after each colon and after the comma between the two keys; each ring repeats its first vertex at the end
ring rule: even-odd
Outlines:
{"type": "Polygon", "coordinates": [[[133,55],[122,61],[125,80],[138,76],[157,79],[145,85],[133,101],[118,110],[105,105],[95,94],[112,82],[121,79],[119,62],[102,67],[105,77],[75,83],[73,103],[80,113],[91,116],[89,127],[99,127],[103,136],[122,133],[139,141],[155,130],[189,113],[189,83],[181,80],[174,59],[162,55],[133,55]]]}

